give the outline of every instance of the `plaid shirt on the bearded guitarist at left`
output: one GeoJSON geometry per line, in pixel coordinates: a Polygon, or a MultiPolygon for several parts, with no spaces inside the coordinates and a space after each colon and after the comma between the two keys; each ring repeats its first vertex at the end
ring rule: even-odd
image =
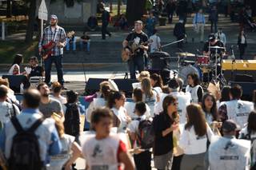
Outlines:
{"type": "MultiPolygon", "coordinates": [[[[56,29],[53,32],[51,30],[51,27],[47,26],[45,28],[45,30],[43,31],[42,38],[40,39],[40,42],[38,44],[38,48],[40,49],[40,48],[42,48],[42,45],[46,45],[50,41],[53,41],[54,36],[55,36],[55,32],[56,32],[56,38],[55,38],[54,42],[65,42],[65,44],[66,44],[66,33],[65,33],[65,30],[62,27],[57,26],[56,29]]],[[[58,47],[57,45],[55,45],[52,50],[54,52],[54,54],[53,54],[54,56],[59,56],[59,55],[63,54],[63,48],[58,47]]]]}

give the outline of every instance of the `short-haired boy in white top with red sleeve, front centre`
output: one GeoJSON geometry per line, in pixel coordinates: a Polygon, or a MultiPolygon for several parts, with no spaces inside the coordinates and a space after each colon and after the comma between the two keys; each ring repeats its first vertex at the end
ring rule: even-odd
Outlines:
{"type": "Polygon", "coordinates": [[[86,159],[86,169],[134,170],[126,144],[118,135],[110,134],[114,115],[110,109],[96,109],[92,113],[91,124],[96,132],[88,136],[82,144],[82,156],[86,159]]]}

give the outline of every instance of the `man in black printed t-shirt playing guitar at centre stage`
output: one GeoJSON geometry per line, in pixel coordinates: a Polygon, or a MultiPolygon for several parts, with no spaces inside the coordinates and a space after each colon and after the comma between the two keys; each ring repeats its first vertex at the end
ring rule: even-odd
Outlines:
{"type": "Polygon", "coordinates": [[[127,38],[122,42],[122,46],[124,50],[126,50],[126,53],[130,54],[128,65],[131,79],[136,79],[136,67],[139,72],[144,70],[144,51],[148,50],[146,42],[148,42],[148,37],[142,32],[142,21],[134,22],[134,31],[128,34],[127,38]],[[138,49],[135,50],[134,53],[131,53],[129,47],[130,42],[133,42],[133,45],[138,45],[138,49]]]}

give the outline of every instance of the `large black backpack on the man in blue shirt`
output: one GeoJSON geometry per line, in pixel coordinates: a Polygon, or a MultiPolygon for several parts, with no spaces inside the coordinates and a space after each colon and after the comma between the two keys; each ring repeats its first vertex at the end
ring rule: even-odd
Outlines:
{"type": "Polygon", "coordinates": [[[38,136],[35,130],[42,124],[44,118],[38,119],[27,130],[22,128],[17,117],[10,120],[14,125],[17,133],[13,137],[13,144],[10,150],[8,160],[10,170],[39,170],[42,169],[43,163],[40,157],[38,136]]]}

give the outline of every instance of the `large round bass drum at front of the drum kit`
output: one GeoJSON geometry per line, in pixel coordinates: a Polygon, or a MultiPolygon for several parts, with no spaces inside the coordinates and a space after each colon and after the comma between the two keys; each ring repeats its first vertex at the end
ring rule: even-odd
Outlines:
{"type": "Polygon", "coordinates": [[[186,67],[183,67],[179,73],[179,77],[184,81],[184,85],[187,85],[186,77],[190,73],[198,74],[199,80],[202,81],[202,69],[200,69],[198,65],[187,65],[186,67]]]}

